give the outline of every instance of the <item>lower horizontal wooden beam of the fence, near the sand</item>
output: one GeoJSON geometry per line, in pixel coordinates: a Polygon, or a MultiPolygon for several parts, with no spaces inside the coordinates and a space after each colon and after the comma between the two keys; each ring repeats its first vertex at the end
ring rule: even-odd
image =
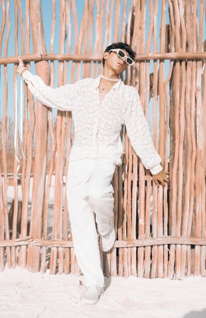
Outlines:
{"type": "MultiPolygon", "coordinates": [[[[145,246],[156,246],[156,245],[169,245],[169,244],[183,244],[183,245],[206,245],[206,238],[197,237],[172,237],[164,236],[150,239],[141,240],[126,240],[116,241],[114,248],[130,248],[130,247],[145,247],[145,246]]],[[[48,246],[48,247],[64,247],[73,248],[72,241],[57,240],[57,239],[32,239],[27,236],[24,239],[13,239],[13,240],[0,240],[0,248],[22,246],[22,245],[35,245],[35,246],[48,246]]]]}

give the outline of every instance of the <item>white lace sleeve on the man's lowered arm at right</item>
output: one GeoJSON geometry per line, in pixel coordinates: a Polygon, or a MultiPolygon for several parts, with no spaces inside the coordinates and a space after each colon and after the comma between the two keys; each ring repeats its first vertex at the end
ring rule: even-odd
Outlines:
{"type": "Polygon", "coordinates": [[[142,160],[144,167],[149,169],[153,175],[163,170],[160,164],[161,157],[154,148],[149,126],[136,90],[132,95],[131,102],[126,105],[124,123],[131,145],[142,160]]]}

